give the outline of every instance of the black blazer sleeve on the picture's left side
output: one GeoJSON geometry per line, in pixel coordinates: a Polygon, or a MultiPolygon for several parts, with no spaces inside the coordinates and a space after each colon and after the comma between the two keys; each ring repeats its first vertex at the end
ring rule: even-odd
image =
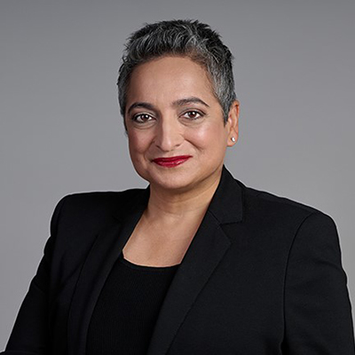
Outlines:
{"type": "Polygon", "coordinates": [[[51,217],[51,237],[46,242],[36,276],[31,280],[23,300],[4,355],[36,355],[50,352],[49,287],[51,255],[60,209],[66,197],[59,201],[51,217]]]}

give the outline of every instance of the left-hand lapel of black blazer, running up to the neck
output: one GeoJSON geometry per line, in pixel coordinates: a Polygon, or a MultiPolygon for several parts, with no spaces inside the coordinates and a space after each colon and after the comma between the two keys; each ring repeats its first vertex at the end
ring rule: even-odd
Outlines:
{"type": "Polygon", "coordinates": [[[69,355],[85,354],[87,332],[95,304],[114,262],[146,209],[148,196],[149,189],[146,189],[140,192],[132,208],[122,206],[126,209],[125,213],[119,215],[122,221],[113,219],[114,224],[99,233],[83,264],[68,316],[69,355]]]}

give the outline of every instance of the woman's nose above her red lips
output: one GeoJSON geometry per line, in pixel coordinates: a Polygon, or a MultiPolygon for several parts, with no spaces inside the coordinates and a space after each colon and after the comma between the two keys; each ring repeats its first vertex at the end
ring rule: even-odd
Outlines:
{"type": "Polygon", "coordinates": [[[175,117],[162,117],[157,125],[154,139],[155,146],[163,152],[170,152],[180,146],[183,139],[177,119],[175,117]]]}

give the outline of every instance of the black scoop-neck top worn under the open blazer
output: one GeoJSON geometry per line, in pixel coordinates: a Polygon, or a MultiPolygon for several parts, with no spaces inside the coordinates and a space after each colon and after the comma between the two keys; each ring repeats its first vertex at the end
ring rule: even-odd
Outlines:
{"type": "Polygon", "coordinates": [[[132,264],[121,254],[92,314],[86,353],[146,354],[177,266],[132,264]]]}

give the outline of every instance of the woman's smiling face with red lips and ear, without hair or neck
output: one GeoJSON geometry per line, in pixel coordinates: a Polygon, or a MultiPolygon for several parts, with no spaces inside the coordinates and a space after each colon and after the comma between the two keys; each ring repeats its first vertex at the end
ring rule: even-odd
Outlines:
{"type": "Polygon", "coordinates": [[[130,158],[153,188],[186,191],[219,181],[227,146],[238,138],[238,102],[224,124],[205,69],[186,57],[136,67],[125,122],[130,158]]]}

